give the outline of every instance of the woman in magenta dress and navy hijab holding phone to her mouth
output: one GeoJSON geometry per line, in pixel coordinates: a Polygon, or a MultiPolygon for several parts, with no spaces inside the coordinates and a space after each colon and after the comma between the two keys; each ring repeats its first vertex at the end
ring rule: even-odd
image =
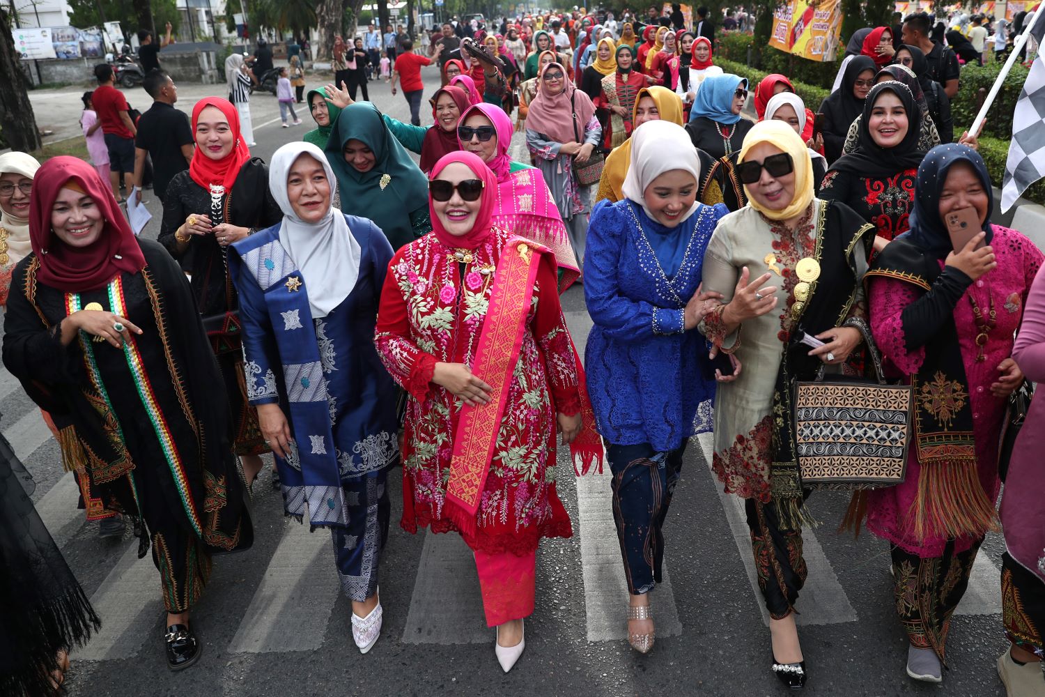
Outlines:
{"type": "Polygon", "coordinates": [[[990,224],[991,179],[966,145],[930,150],[915,191],[910,232],[867,272],[875,341],[914,385],[916,425],[906,480],[869,493],[867,527],[891,547],[907,674],[939,682],[951,615],[997,526],[998,441],[1023,379],[1013,336],[1042,253],[990,224]],[[982,232],[956,253],[944,218],[969,208],[982,232]]]}

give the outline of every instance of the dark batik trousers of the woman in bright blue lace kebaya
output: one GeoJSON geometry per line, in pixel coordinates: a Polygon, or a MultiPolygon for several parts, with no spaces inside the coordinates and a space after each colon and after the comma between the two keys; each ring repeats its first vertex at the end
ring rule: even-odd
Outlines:
{"type": "Polygon", "coordinates": [[[664,521],[675,485],[682,474],[686,442],[669,452],[649,443],[610,445],[613,473],[613,521],[621,542],[628,591],[641,596],[660,583],[664,564],[664,521]]]}

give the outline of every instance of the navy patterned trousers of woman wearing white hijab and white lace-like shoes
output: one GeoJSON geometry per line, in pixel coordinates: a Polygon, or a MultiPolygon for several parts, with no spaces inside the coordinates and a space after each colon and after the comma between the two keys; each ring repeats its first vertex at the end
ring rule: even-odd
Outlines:
{"type": "Polygon", "coordinates": [[[377,593],[377,570],[391,514],[387,475],[388,469],[381,469],[343,482],[348,527],[330,529],[342,590],[356,602],[377,593]]]}

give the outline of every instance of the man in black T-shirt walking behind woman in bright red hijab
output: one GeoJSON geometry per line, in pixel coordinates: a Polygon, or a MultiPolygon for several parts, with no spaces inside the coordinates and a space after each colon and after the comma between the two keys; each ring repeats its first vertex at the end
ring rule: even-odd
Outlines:
{"type": "Polygon", "coordinates": [[[162,70],[145,75],[142,87],[153,97],[152,108],[138,119],[135,137],[134,183],[141,201],[141,181],[146,156],[153,158],[153,190],[163,200],[167,184],[178,172],[188,169],[195,140],[189,117],[177,109],[178,88],[162,70]]]}

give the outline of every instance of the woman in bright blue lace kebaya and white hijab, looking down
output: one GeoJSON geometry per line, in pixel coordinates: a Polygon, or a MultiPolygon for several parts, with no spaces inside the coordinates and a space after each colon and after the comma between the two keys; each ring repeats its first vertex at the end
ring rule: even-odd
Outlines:
{"type": "MultiPolygon", "coordinates": [[[[648,593],[660,582],[660,528],[687,439],[711,431],[715,380],[696,331],[704,248],[728,210],[696,201],[700,164],[686,130],[649,121],[631,136],[624,199],[591,214],[584,297],[595,325],[588,394],[609,449],[613,519],[631,594],[628,642],[653,646],[648,593]],[[672,153],[672,157],[664,157],[672,153]]],[[[718,297],[718,296],[716,296],[718,297]]],[[[732,379],[732,378],[725,378],[732,379]]]]}

